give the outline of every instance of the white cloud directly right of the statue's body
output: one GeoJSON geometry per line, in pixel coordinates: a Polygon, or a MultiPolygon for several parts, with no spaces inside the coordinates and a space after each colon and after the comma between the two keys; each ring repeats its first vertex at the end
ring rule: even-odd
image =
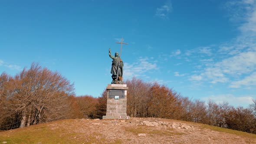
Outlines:
{"type": "Polygon", "coordinates": [[[144,75],[144,73],[146,72],[159,69],[156,62],[151,60],[154,60],[154,59],[140,57],[137,62],[134,62],[132,64],[125,62],[123,77],[125,79],[130,79],[133,76],[136,77],[136,76],[144,75]]]}

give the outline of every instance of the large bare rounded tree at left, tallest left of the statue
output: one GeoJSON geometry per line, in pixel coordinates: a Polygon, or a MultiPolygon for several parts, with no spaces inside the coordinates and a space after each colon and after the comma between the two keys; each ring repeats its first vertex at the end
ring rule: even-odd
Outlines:
{"type": "Polygon", "coordinates": [[[20,127],[64,118],[73,84],[58,72],[32,63],[10,81],[13,111],[21,115],[20,127]]]}

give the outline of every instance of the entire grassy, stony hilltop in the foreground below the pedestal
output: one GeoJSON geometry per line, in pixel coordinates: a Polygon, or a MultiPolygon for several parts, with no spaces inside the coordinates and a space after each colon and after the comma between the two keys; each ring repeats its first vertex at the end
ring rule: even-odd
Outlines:
{"type": "Polygon", "coordinates": [[[256,144],[256,134],[161,118],[68,119],[0,132],[0,144],[256,144]]]}

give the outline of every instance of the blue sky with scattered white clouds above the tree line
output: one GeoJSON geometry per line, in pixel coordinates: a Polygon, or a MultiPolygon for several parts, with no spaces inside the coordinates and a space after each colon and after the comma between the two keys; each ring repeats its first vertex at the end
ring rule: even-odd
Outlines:
{"type": "Polygon", "coordinates": [[[39,62],[98,97],[121,37],[124,79],[234,106],[256,99],[256,0],[0,0],[0,73],[39,62]]]}

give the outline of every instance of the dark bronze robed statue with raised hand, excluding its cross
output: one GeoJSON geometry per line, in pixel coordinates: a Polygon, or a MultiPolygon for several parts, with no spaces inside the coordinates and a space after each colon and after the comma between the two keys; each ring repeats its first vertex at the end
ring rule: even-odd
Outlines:
{"type": "Polygon", "coordinates": [[[123,61],[118,56],[118,52],[115,52],[115,56],[111,56],[111,51],[108,49],[108,55],[112,60],[111,74],[112,74],[112,84],[123,84],[123,61]]]}

